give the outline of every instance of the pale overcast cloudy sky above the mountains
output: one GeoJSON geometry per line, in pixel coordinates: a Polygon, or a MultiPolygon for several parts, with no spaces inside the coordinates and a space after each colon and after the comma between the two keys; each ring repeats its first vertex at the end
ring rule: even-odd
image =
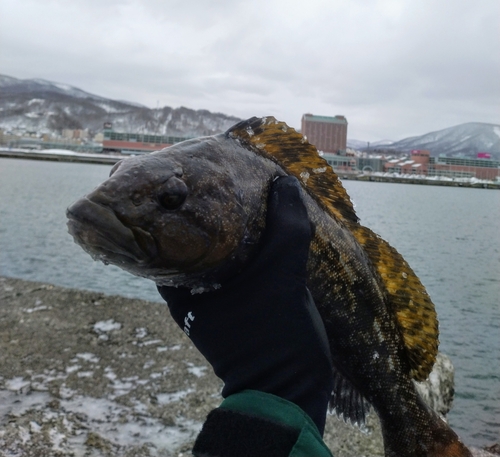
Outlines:
{"type": "Polygon", "coordinates": [[[400,140],[500,124],[500,1],[0,0],[0,73],[400,140]]]}

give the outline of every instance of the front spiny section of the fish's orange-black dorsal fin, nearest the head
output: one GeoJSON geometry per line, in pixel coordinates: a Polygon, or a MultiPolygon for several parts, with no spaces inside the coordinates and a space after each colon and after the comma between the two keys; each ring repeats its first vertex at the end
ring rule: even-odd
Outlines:
{"type": "Polygon", "coordinates": [[[226,135],[281,165],[338,220],[358,221],[351,200],[332,168],[320,157],[315,146],[284,122],[271,116],[253,117],[231,127],[226,135]]]}

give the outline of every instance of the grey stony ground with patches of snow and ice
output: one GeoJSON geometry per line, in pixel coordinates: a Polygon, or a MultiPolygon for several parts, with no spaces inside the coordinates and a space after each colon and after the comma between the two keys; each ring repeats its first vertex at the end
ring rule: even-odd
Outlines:
{"type": "MultiPolygon", "coordinates": [[[[165,305],[2,277],[0,303],[0,456],[191,455],[221,383],[165,305]]],[[[325,441],[383,456],[373,414],[325,441]]]]}

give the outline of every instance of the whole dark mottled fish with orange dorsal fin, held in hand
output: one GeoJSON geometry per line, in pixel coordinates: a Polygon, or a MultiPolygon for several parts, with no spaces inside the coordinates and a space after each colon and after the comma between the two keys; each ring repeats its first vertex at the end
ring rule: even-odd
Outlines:
{"type": "Polygon", "coordinates": [[[470,456],[418,395],[438,352],[434,304],[409,264],[361,225],[314,145],[272,116],[121,160],[67,209],[68,231],[94,259],[159,286],[224,287],[258,252],[271,184],[295,176],[314,226],[307,286],[333,364],[330,407],[363,424],[373,407],[385,455],[470,456]]]}

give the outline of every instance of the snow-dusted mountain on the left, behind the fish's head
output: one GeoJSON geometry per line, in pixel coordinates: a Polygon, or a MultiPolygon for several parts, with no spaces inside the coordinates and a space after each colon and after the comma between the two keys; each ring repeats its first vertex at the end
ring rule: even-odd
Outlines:
{"type": "Polygon", "coordinates": [[[224,132],[240,121],[234,116],[189,108],[151,109],[110,100],[66,84],[0,75],[0,128],[39,133],[62,129],[102,130],[112,122],[118,132],[202,136],[224,132]]]}

